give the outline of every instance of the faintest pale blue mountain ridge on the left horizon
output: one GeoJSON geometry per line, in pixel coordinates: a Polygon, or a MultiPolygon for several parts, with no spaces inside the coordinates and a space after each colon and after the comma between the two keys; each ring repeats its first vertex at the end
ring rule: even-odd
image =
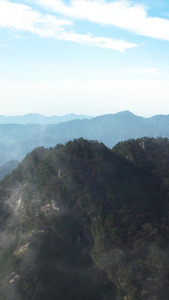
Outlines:
{"type": "Polygon", "coordinates": [[[58,124],[75,119],[90,119],[91,116],[67,114],[64,116],[47,117],[40,114],[26,114],[23,116],[2,116],[0,115],[0,124],[58,124]]]}

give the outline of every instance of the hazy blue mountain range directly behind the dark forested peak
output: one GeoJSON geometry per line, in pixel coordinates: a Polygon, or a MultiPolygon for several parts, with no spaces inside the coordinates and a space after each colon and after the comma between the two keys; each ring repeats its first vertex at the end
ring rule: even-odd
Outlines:
{"type": "Polygon", "coordinates": [[[85,119],[65,122],[62,119],[59,124],[48,125],[0,124],[0,164],[9,160],[20,161],[35,147],[53,147],[57,143],[65,143],[80,137],[98,140],[109,148],[119,141],[132,138],[169,137],[169,115],[143,118],[129,111],[123,111],[87,118],[85,116],[85,119]]]}

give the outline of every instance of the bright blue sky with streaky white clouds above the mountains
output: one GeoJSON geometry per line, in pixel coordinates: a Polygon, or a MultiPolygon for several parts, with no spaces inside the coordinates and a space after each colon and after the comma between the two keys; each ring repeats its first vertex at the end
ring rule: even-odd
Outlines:
{"type": "Polygon", "coordinates": [[[0,115],[169,114],[168,0],[0,0],[0,115]]]}

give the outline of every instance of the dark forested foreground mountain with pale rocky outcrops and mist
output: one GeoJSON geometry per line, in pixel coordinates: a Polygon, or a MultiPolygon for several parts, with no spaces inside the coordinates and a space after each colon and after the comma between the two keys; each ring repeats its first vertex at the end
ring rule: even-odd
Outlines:
{"type": "Polygon", "coordinates": [[[1,300],[168,300],[169,140],[39,147],[0,182],[1,300]]]}

